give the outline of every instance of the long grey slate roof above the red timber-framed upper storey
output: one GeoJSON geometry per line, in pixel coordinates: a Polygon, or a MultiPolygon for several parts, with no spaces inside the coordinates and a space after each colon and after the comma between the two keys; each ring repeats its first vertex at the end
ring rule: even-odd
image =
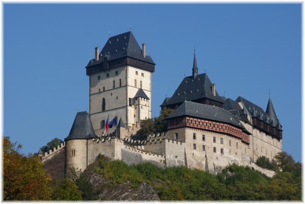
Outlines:
{"type": "Polygon", "coordinates": [[[182,103],[170,116],[167,118],[175,118],[179,116],[193,116],[198,118],[204,118],[214,121],[220,121],[232,124],[240,127],[244,131],[250,133],[238,120],[237,117],[229,113],[228,111],[205,104],[194,103],[191,101],[185,101],[182,103]]]}

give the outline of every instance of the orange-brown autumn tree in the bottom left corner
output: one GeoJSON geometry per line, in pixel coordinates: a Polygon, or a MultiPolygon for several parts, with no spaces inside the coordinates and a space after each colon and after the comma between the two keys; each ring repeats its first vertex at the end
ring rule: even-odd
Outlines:
{"type": "Polygon", "coordinates": [[[21,145],[3,139],[4,200],[49,200],[52,192],[51,177],[46,175],[37,156],[23,156],[21,145]]]}

